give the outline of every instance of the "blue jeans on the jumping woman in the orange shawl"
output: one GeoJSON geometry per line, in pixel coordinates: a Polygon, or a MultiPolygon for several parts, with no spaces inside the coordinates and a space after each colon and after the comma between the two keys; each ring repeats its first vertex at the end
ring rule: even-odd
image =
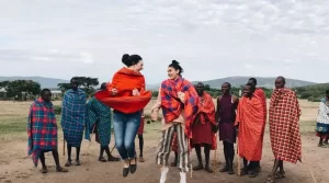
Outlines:
{"type": "Polygon", "coordinates": [[[124,114],[115,112],[113,115],[113,128],[115,147],[123,160],[134,159],[135,137],[140,125],[140,112],[124,114]]]}

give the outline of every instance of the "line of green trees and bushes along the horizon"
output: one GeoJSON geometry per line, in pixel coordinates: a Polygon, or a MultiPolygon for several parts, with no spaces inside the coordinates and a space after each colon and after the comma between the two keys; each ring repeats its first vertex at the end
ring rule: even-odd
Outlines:
{"type": "MultiPolygon", "coordinates": [[[[84,90],[88,96],[91,96],[95,91],[97,87],[100,84],[98,78],[91,77],[76,77],[79,81],[80,89],[84,90]]],[[[69,90],[70,83],[58,83],[57,85],[59,90],[65,93],[69,90]]],[[[232,87],[231,93],[239,96],[239,91],[242,90],[243,85],[241,87],[232,87]]],[[[1,81],[0,89],[4,89],[4,92],[0,91],[0,99],[21,99],[21,100],[29,100],[35,99],[42,90],[41,84],[38,82],[32,80],[15,80],[15,81],[1,81]],[[31,98],[29,98],[31,96],[31,98]]],[[[263,89],[266,98],[271,98],[273,92],[272,89],[261,88],[263,89]]],[[[326,90],[329,90],[329,83],[325,84],[314,84],[314,85],[306,85],[306,87],[298,87],[293,89],[299,99],[305,99],[311,102],[319,102],[321,98],[325,96],[326,90]]],[[[213,98],[218,98],[222,95],[220,89],[211,88],[211,85],[205,84],[205,91],[208,92],[213,98]]],[[[152,92],[152,96],[158,96],[158,91],[152,92]]]]}

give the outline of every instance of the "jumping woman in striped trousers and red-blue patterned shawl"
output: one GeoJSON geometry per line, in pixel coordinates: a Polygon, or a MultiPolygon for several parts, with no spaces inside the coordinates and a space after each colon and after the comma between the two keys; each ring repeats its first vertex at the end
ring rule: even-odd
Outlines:
{"type": "Polygon", "coordinates": [[[200,99],[194,85],[181,77],[182,72],[183,69],[178,61],[173,60],[169,65],[169,79],[161,83],[158,100],[151,113],[152,121],[157,121],[160,108],[163,113],[162,138],[157,152],[157,164],[162,165],[160,183],[167,180],[168,158],[174,131],[177,131],[180,155],[180,183],[186,182],[186,172],[189,172],[191,125],[198,112],[200,99]]]}

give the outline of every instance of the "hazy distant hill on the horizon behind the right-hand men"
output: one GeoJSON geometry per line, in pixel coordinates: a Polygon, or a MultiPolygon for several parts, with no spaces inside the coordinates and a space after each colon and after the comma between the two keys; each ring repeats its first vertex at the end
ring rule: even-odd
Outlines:
{"type": "MultiPolygon", "coordinates": [[[[232,87],[240,87],[247,83],[248,79],[251,77],[228,77],[208,81],[202,81],[204,84],[209,84],[211,88],[219,89],[224,82],[229,82],[232,87]]],[[[272,89],[274,87],[275,78],[261,78],[257,77],[258,87],[264,87],[272,89]]],[[[200,81],[194,81],[193,83],[197,83],[200,81]]],[[[286,87],[287,88],[296,88],[296,87],[304,87],[304,85],[311,85],[316,84],[316,82],[296,80],[296,79],[288,79],[286,78],[286,87]]]]}

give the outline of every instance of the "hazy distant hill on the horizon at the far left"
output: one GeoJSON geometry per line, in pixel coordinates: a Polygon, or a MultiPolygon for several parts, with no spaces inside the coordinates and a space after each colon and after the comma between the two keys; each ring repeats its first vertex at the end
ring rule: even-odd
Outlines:
{"type": "Polygon", "coordinates": [[[58,83],[69,82],[69,80],[43,78],[43,77],[0,77],[0,81],[14,81],[14,80],[32,80],[38,82],[42,88],[57,88],[58,83]]]}

